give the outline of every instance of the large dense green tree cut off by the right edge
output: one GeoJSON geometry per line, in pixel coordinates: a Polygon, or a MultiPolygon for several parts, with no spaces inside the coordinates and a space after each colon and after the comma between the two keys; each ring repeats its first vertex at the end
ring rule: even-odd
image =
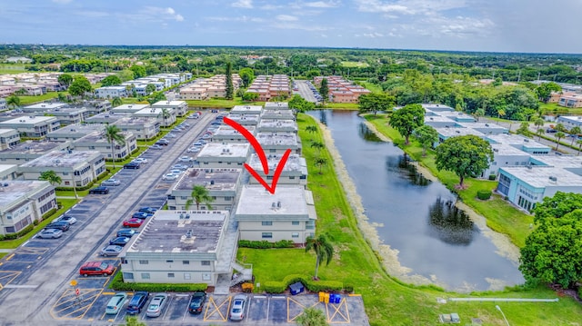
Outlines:
{"type": "Polygon", "coordinates": [[[582,279],[582,194],[557,192],[534,209],[537,229],[526,239],[519,259],[529,284],[572,287],[582,279]]]}

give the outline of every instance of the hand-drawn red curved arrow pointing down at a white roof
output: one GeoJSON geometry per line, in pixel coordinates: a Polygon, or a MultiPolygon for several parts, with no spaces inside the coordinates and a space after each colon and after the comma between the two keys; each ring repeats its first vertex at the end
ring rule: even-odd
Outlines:
{"type": "MultiPolygon", "coordinates": [[[[245,136],[246,140],[249,143],[251,143],[251,145],[255,149],[256,155],[258,156],[259,160],[261,160],[261,163],[263,164],[263,171],[265,171],[265,174],[268,174],[269,173],[269,164],[266,161],[265,151],[263,150],[263,147],[261,146],[261,144],[258,143],[255,136],[252,133],[250,133],[248,130],[246,130],[245,127],[243,127],[242,125],[236,123],[235,121],[233,121],[227,117],[224,117],[223,121],[226,124],[230,125],[231,127],[235,128],[235,130],[237,132],[239,132],[243,136],[245,136]]],[[[287,162],[287,159],[289,158],[290,154],[291,154],[291,149],[287,149],[285,151],[285,153],[283,154],[283,157],[281,157],[281,161],[276,166],[275,174],[273,174],[273,183],[271,183],[271,185],[266,183],[266,181],[263,180],[263,178],[258,173],[256,173],[255,169],[253,169],[247,163],[245,163],[245,168],[249,173],[251,173],[251,175],[253,175],[255,177],[256,181],[258,181],[259,183],[261,183],[265,187],[265,189],[269,193],[275,193],[276,183],[279,181],[279,176],[283,172],[283,168],[285,167],[285,163],[287,162]]]]}

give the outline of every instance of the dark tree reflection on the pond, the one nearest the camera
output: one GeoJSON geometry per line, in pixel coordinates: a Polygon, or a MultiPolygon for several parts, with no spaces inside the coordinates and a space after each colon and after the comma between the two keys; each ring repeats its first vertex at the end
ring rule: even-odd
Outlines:
{"type": "Polygon", "coordinates": [[[465,212],[459,210],[453,201],[444,201],[441,197],[429,207],[428,223],[431,235],[455,245],[468,245],[478,232],[465,212]]]}

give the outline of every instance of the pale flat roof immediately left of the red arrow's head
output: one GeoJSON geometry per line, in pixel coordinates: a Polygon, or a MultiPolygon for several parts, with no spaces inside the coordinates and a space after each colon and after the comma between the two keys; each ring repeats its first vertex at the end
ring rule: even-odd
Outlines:
{"type": "Polygon", "coordinates": [[[173,190],[191,192],[195,185],[203,185],[208,191],[236,191],[236,182],[242,171],[230,168],[190,168],[173,190]]]}

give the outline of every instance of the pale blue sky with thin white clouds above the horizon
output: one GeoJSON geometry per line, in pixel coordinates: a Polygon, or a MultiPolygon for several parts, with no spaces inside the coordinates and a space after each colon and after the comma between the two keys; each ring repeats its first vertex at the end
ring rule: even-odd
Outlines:
{"type": "Polygon", "coordinates": [[[0,43],[582,54],[582,0],[2,0],[0,43]]]}

